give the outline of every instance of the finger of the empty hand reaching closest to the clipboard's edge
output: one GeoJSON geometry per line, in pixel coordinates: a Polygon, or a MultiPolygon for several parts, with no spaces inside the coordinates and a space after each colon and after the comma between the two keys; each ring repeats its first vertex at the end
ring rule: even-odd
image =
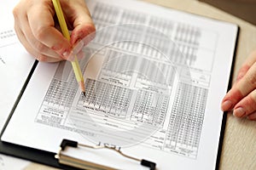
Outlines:
{"type": "Polygon", "coordinates": [[[253,64],[246,75],[241,78],[225,95],[221,108],[223,111],[230,111],[247,94],[256,88],[256,64],[253,64]]]}

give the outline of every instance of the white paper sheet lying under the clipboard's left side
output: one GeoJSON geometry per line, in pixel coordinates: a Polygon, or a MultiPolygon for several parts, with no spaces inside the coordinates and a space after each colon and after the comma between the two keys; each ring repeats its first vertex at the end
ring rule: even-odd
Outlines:
{"type": "MultiPolygon", "coordinates": [[[[26,53],[15,35],[12,8],[18,1],[0,2],[0,130],[4,126],[15,100],[31,71],[34,59],[26,53]],[[14,50],[15,49],[15,50],[14,50]]],[[[0,154],[1,170],[20,170],[30,161],[0,154]]]]}

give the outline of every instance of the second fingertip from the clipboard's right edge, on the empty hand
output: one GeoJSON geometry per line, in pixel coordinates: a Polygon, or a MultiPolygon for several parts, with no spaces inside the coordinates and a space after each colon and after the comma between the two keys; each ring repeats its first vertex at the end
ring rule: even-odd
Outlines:
{"type": "Polygon", "coordinates": [[[252,93],[235,105],[233,114],[234,116],[242,117],[248,116],[254,111],[256,111],[256,90],[253,90],[252,93]]]}

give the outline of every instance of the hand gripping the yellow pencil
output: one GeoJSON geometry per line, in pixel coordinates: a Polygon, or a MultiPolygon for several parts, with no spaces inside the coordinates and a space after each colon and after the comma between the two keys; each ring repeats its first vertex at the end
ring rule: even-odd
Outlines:
{"type": "Polygon", "coordinates": [[[55,26],[55,9],[51,0],[20,0],[13,10],[17,37],[40,61],[67,59],[73,45],[95,31],[84,0],[60,0],[60,3],[67,27],[72,30],[70,42],[55,26]]]}

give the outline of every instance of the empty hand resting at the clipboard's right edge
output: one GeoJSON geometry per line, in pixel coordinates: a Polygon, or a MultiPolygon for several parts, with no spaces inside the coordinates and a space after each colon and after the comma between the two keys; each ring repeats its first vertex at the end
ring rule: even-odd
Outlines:
{"type": "Polygon", "coordinates": [[[238,72],[236,82],[224,96],[221,108],[237,117],[256,121],[256,51],[251,53],[238,72]]]}

